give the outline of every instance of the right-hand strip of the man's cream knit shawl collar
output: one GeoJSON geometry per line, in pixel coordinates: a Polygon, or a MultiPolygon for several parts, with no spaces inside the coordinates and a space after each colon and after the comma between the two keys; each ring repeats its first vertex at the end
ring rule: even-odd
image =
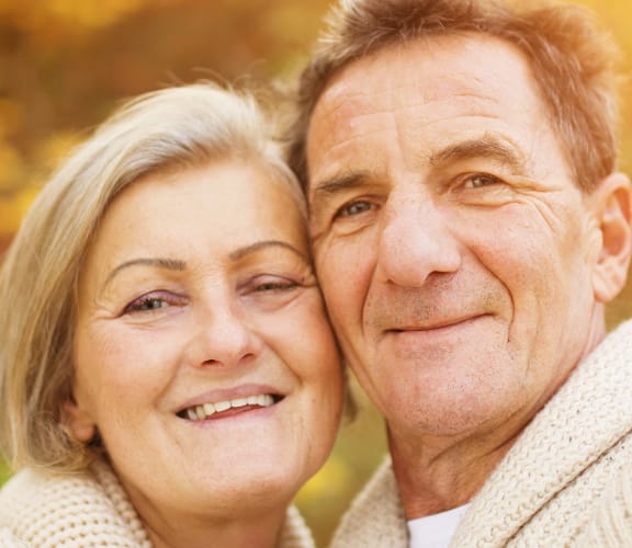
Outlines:
{"type": "Polygon", "coordinates": [[[582,362],[473,499],[453,543],[504,545],[632,430],[632,321],[582,362]],[[501,509],[501,511],[499,511],[501,509]]]}

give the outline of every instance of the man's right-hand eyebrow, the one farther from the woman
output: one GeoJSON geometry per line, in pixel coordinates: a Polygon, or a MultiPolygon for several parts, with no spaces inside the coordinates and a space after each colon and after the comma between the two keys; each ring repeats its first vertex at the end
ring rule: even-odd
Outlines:
{"type": "Polygon", "coordinates": [[[510,142],[490,136],[450,145],[430,156],[430,165],[437,168],[448,162],[487,158],[518,172],[528,168],[527,159],[510,142]]]}

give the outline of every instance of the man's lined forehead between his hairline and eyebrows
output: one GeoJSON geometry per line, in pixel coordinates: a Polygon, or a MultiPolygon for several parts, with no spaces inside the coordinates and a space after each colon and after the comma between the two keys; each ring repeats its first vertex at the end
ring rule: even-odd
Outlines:
{"type": "Polygon", "coordinates": [[[350,168],[376,169],[387,161],[388,147],[425,163],[461,141],[494,135],[519,149],[510,163],[528,164],[531,152],[543,152],[534,139],[557,148],[546,112],[526,57],[498,38],[442,37],[385,48],[350,64],[323,93],[307,139],[309,183],[350,168]]]}

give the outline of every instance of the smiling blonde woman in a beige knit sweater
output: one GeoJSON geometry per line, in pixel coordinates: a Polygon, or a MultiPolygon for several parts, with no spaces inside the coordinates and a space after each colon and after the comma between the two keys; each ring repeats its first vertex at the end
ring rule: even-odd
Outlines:
{"type": "Polygon", "coordinates": [[[343,383],[269,127],[212,84],[159,91],[42,191],[0,274],[4,538],[312,544],[289,506],[343,383]]]}

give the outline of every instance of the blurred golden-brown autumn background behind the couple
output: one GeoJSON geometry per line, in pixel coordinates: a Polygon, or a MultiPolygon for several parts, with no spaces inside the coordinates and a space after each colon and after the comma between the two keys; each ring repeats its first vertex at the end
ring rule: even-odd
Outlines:
{"type": "MultiPolygon", "coordinates": [[[[329,3],[0,0],[0,253],[52,169],[123,99],[203,78],[291,79],[329,3]]],[[[630,0],[577,3],[597,11],[632,67],[630,0]]],[[[631,113],[629,107],[622,140],[629,173],[631,113]]],[[[631,315],[629,284],[610,307],[609,323],[631,315]]],[[[354,391],[359,416],[343,426],[334,456],[297,500],[319,546],[385,450],[377,413],[354,391]]],[[[0,463],[0,483],[8,475],[0,463]]]]}

